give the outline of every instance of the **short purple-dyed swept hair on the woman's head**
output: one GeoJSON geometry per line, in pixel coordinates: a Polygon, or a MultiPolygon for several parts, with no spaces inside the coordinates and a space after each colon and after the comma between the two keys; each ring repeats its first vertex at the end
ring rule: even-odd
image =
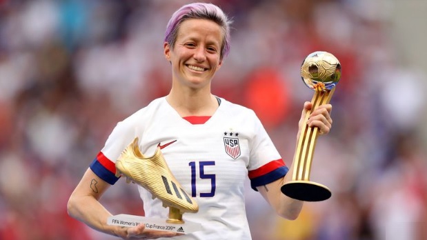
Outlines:
{"type": "Polygon", "coordinates": [[[230,52],[230,25],[231,19],[212,3],[189,3],[179,8],[168,22],[166,27],[165,40],[169,43],[170,48],[174,48],[177,41],[179,27],[183,21],[188,19],[207,19],[217,23],[223,32],[220,58],[224,59],[230,52]]]}

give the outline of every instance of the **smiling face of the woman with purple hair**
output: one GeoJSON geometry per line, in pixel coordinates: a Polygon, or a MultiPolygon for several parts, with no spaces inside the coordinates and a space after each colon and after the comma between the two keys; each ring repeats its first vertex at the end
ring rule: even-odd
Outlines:
{"type": "Polygon", "coordinates": [[[208,88],[221,67],[223,35],[219,25],[206,19],[181,23],[175,46],[164,43],[165,57],[172,64],[172,88],[208,88]]]}

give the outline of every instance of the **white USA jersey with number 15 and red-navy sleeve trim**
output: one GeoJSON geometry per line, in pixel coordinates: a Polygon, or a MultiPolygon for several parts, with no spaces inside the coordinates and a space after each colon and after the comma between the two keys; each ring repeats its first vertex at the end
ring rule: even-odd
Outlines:
{"type": "MultiPolygon", "coordinates": [[[[160,143],[175,178],[199,204],[199,212],[183,219],[201,223],[203,230],[176,239],[251,239],[244,182],[249,177],[255,189],[288,171],[255,112],[225,99],[203,124],[180,117],[165,97],[155,99],[117,124],[92,170],[115,183],[114,163],[135,137],[145,156],[160,143]]],[[[139,192],[147,217],[167,219],[168,208],[159,199],[140,186],[139,192]]]]}

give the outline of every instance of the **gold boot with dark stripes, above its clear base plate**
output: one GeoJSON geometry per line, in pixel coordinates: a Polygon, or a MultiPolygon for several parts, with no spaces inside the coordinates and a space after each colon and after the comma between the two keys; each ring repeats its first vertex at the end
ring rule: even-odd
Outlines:
{"type": "Polygon", "coordinates": [[[152,157],[145,157],[139,150],[138,138],[135,138],[116,161],[116,172],[116,177],[123,174],[127,183],[132,181],[146,188],[152,199],[158,197],[164,208],[169,207],[168,222],[183,223],[184,212],[199,211],[197,202],[170,172],[159,147],[152,157]]]}

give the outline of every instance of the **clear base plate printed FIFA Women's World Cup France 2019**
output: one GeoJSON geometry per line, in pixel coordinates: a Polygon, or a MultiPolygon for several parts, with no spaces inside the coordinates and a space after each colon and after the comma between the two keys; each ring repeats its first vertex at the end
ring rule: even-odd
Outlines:
{"type": "Polygon", "coordinates": [[[200,223],[193,223],[191,221],[171,223],[167,219],[155,217],[141,217],[129,214],[118,214],[112,217],[108,217],[107,220],[108,225],[123,227],[136,227],[141,223],[143,223],[146,228],[150,230],[177,232],[182,234],[188,234],[201,230],[200,223]]]}

